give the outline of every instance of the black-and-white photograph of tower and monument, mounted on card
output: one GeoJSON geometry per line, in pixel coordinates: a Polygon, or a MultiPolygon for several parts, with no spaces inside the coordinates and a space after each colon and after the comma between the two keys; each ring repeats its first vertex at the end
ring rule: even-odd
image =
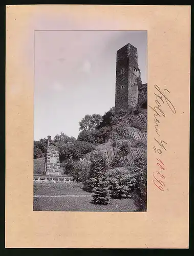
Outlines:
{"type": "Polygon", "coordinates": [[[34,211],[146,211],[147,31],[34,34],[34,211]]]}

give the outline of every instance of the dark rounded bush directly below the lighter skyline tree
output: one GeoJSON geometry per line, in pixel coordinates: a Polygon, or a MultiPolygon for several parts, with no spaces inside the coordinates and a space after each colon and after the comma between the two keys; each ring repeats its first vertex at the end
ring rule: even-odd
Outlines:
{"type": "Polygon", "coordinates": [[[104,142],[102,133],[99,130],[81,131],[78,135],[78,141],[89,142],[92,144],[102,144],[104,142]]]}

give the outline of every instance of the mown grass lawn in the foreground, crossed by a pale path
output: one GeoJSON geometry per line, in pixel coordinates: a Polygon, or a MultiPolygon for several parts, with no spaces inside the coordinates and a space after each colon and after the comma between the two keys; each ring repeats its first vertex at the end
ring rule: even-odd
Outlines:
{"type": "MultiPolygon", "coordinates": [[[[34,195],[92,195],[81,183],[34,183],[34,195]]],[[[132,199],[111,199],[108,205],[95,205],[91,197],[34,197],[36,211],[134,211],[132,199]]]]}

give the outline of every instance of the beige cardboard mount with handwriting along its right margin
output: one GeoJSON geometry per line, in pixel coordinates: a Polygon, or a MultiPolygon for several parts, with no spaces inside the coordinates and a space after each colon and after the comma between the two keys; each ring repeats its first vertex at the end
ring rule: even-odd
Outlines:
{"type": "Polygon", "coordinates": [[[189,93],[190,6],[7,6],[6,247],[188,248],[189,93]],[[33,212],[35,30],[147,30],[148,105],[156,84],[176,109],[162,96],[159,154],[148,107],[147,212],[33,212]],[[153,182],[158,157],[164,191],[153,182]]]}

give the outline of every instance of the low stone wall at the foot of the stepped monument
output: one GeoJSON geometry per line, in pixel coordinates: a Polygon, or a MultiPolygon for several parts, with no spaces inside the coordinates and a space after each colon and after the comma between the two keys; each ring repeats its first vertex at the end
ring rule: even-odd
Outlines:
{"type": "Polygon", "coordinates": [[[73,182],[72,175],[34,175],[34,182],[73,182]]]}

